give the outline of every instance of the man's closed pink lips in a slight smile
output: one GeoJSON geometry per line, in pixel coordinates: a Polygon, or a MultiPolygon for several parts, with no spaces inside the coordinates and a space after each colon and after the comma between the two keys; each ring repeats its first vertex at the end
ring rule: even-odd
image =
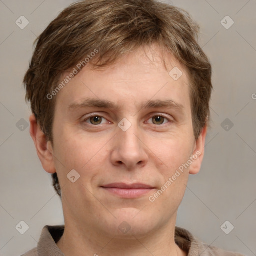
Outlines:
{"type": "Polygon", "coordinates": [[[101,186],[105,191],[122,198],[137,198],[151,192],[155,187],[142,183],[111,183],[101,186]]]}

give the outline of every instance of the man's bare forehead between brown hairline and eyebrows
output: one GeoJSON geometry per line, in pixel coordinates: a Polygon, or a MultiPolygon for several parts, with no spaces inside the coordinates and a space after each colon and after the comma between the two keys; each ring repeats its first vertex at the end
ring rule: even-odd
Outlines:
{"type": "MultiPolygon", "coordinates": [[[[92,59],[93,61],[93,59],[92,59]]],[[[66,71],[60,82],[70,74],[66,71]]],[[[186,69],[168,52],[158,47],[141,47],[121,56],[112,65],[94,68],[90,63],[61,89],[57,101],[70,106],[84,98],[127,103],[173,100],[189,107],[189,80],[186,69]],[[179,101],[179,102],[178,102],[179,101]]]]}

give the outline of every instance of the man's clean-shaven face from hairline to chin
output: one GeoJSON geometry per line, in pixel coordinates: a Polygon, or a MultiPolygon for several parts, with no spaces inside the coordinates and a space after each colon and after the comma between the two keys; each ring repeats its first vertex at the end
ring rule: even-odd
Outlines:
{"type": "Polygon", "coordinates": [[[166,70],[160,55],[139,49],[111,67],[88,63],[58,92],[50,164],[65,224],[139,237],[175,223],[202,137],[194,139],[185,69],[168,55],[166,70]]]}

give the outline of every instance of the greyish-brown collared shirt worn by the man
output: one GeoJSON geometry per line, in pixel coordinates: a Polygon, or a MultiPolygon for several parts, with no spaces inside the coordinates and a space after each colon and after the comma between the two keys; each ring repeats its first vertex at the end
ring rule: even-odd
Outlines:
{"type": "MultiPolygon", "coordinates": [[[[37,247],[21,256],[64,256],[56,244],[63,235],[63,232],[64,225],[44,226],[37,247]]],[[[179,248],[186,251],[188,256],[244,256],[238,252],[225,251],[207,245],[181,227],[175,227],[174,237],[175,243],[179,248]]]]}

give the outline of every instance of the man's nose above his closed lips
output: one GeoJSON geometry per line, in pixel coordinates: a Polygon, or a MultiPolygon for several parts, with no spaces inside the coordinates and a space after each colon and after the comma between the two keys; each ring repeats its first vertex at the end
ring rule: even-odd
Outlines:
{"type": "Polygon", "coordinates": [[[146,151],[147,147],[138,128],[131,125],[127,131],[120,129],[114,136],[111,162],[115,166],[124,165],[129,170],[142,167],[148,162],[146,151]]]}

